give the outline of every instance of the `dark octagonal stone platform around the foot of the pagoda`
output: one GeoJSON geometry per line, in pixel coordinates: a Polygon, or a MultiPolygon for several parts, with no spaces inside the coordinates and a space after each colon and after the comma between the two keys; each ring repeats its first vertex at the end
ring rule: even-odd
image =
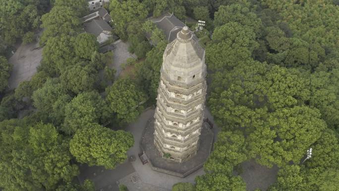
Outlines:
{"type": "Polygon", "coordinates": [[[154,145],[154,119],[148,120],[140,140],[140,147],[148,159],[152,170],[184,178],[200,169],[211,153],[213,145],[213,132],[207,124],[203,124],[200,134],[198,152],[191,159],[177,163],[162,157],[154,145]]]}

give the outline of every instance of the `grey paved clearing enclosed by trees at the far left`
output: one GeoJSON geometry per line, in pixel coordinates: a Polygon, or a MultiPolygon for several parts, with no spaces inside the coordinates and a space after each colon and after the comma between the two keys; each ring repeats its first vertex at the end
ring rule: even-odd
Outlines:
{"type": "Polygon", "coordinates": [[[13,64],[13,70],[8,79],[8,88],[16,88],[21,81],[30,80],[37,72],[42,59],[42,48],[39,48],[39,42],[23,45],[16,50],[8,62],[13,64]]]}

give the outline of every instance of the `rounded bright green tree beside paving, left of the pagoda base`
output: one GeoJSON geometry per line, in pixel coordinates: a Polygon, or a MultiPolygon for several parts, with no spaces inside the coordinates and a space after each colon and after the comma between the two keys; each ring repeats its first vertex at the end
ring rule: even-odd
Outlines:
{"type": "Polygon", "coordinates": [[[89,124],[76,131],[69,150],[80,163],[113,169],[117,163],[127,159],[126,151],[133,144],[133,135],[129,132],[89,124]]]}

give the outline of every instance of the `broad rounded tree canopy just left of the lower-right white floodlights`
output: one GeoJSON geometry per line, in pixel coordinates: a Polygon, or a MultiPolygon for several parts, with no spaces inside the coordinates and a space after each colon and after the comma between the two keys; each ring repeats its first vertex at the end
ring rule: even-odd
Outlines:
{"type": "Polygon", "coordinates": [[[249,153],[252,157],[260,156],[257,161],[263,165],[283,166],[290,161],[298,164],[326,128],[317,109],[306,106],[279,109],[269,116],[267,125],[256,127],[249,135],[249,153]]]}

